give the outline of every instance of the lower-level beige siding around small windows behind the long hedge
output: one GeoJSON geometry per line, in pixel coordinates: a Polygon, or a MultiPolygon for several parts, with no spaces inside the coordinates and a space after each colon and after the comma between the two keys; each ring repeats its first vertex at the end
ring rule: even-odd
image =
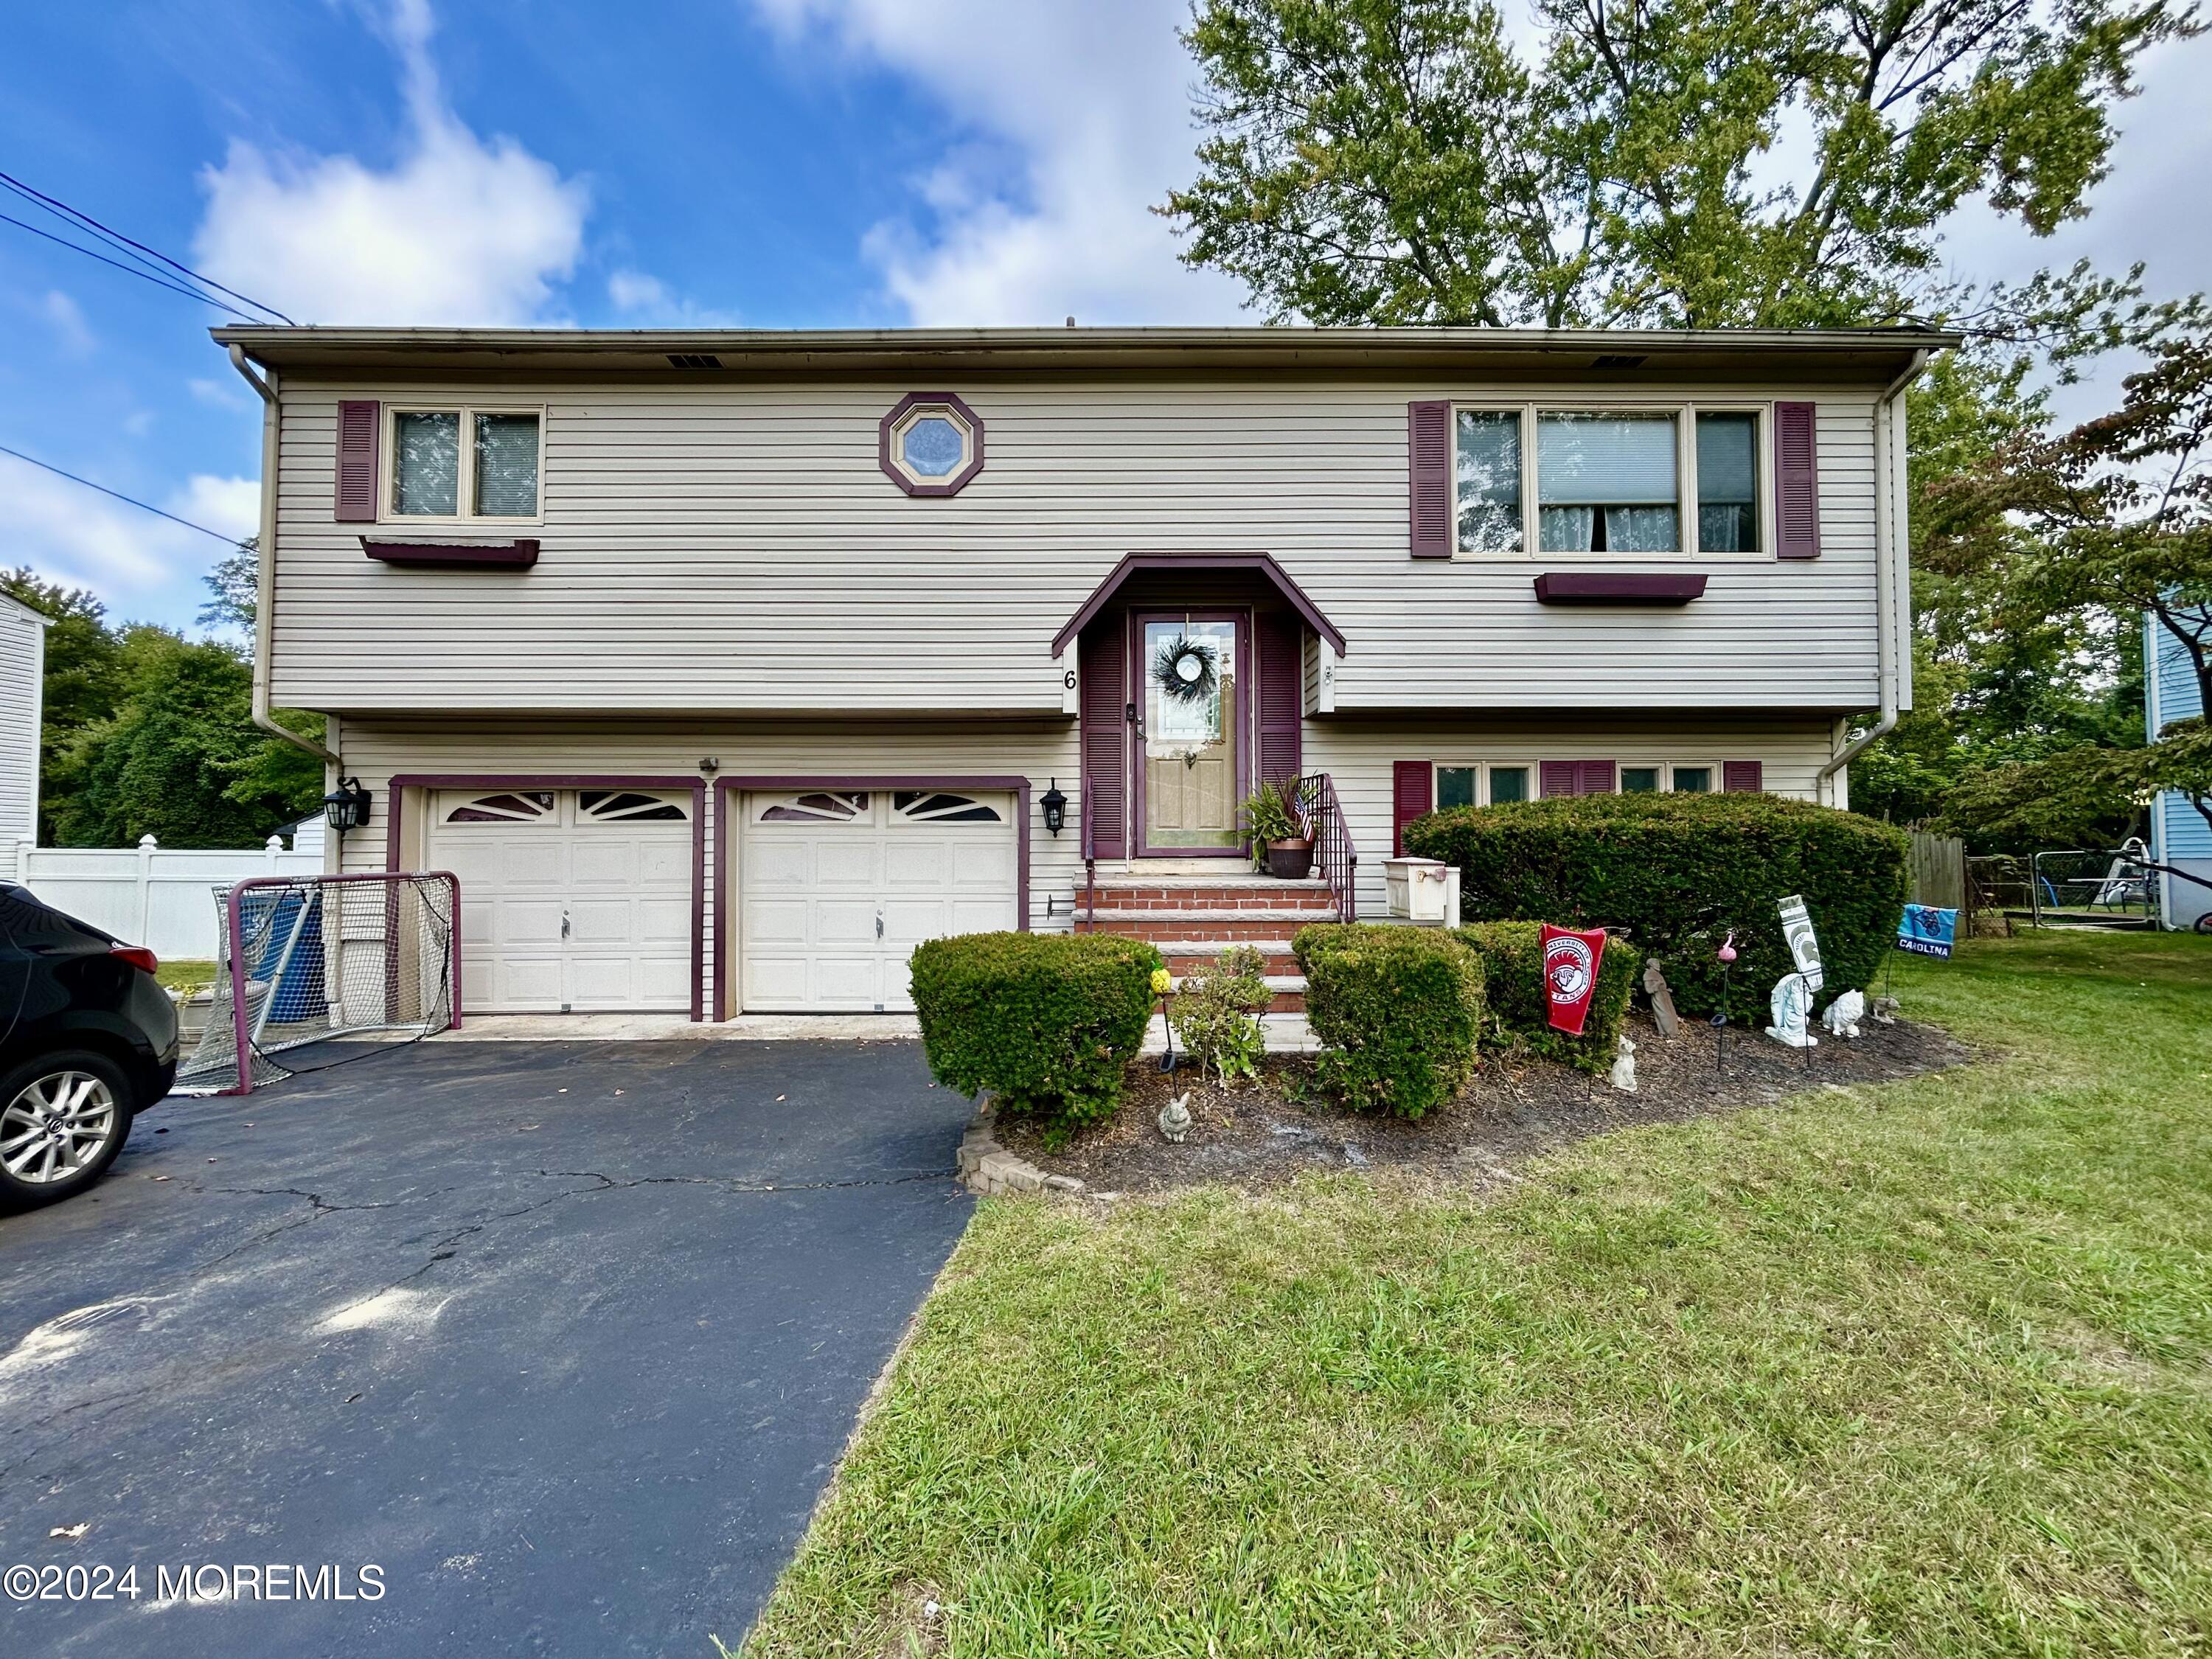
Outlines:
{"type": "MultiPolygon", "coordinates": [[[[1396,761],[1619,761],[1621,765],[1759,761],[1772,794],[1816,799],[1834,752],[1827,721],[1668,719],[1619,721],[1307,721],[1305,770],[1327,772],[1360,854],[1363,918],[1385,914],[1383,860],[1391,856],[1391,765],[1396,761]]],[[[1719,787],[1714,776],[1714,787],[1719,787]]],[[[1535,779],[1531,779],[1535,785],[1535,779]]],[[[1843,805],[1838,801],[1838,805],[1843,805]]]]}

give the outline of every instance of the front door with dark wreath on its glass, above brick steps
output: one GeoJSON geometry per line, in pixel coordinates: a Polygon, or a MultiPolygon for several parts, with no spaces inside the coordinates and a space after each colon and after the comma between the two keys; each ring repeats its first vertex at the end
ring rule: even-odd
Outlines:
{"type": "Polygon", "coordinates": [[[1243,834],[1243,619],[1135,617],[1137,779],[1148,856],[1237,856],[1243,834]]]}

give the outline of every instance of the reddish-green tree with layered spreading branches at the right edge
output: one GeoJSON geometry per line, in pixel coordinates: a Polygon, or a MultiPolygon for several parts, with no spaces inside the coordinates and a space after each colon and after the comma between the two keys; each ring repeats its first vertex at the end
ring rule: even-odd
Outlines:
{"type": "MultiPolygon", "coordinates": [[[[2212,710],[2212,336],[2161,338],[2121,407],[2057,438],[2022,434],[1929,489],[1927,564],[1991,595],[1995,628],[2035,637],[2150,615],[2212,710]]],[[[2084,743],[2006,768],[1947,807],[1953,823],[2081,823],[2179,790],[2212,825],[2212,734],[2183,721],[2148,748],[2084,743]]]]}

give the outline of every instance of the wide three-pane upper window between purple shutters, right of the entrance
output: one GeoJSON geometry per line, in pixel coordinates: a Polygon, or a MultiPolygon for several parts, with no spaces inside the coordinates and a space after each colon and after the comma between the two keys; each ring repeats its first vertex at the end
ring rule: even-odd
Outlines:
{"type": "Polygon", "coordinates": [[[1460,557],[1763,555],[1767,405],[1453,405],[1460,557]]]}

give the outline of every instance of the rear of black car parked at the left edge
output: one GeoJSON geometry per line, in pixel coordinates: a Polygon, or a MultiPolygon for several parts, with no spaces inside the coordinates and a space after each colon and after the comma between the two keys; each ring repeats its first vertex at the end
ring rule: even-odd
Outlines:
{"type": "Polygon", "coordinates": [[[0,883],[0,1208],[82,1192],[177,1082],[153,951],[0,883]]]}

